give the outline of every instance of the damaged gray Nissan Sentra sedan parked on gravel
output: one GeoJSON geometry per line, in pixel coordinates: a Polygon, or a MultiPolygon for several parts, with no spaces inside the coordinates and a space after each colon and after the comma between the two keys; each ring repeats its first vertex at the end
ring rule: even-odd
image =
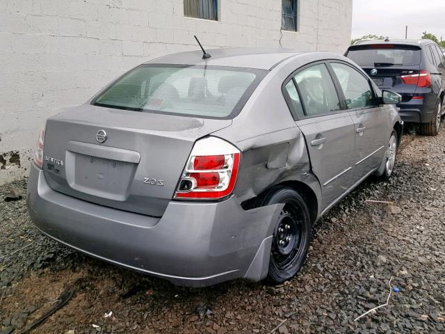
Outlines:
{"type": "Polygon", "coordinates": [[[391,176],[400,95],[348,58],[210,54],[156,58],[47,120],[27,194],[44,234],[178,285],[282,283],[318,218],[391,176]]]}

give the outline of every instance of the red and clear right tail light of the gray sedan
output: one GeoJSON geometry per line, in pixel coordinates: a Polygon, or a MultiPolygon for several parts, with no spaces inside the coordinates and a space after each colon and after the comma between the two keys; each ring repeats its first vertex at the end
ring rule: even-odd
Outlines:
{"type": "Polygon", "coordinates": [[[234,190],[241,152],[216,137],[197,141],[188,157],[175,198],[218,199],[234,190]]]}

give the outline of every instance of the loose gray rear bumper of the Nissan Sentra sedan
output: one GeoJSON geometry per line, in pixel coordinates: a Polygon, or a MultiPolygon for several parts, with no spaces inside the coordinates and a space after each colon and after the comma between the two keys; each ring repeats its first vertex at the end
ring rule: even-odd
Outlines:
{"type": "Polygon", "coordinates": [[[49,237],[129,269],[177,285],[206,286],[267,274],[273,225],[282,205],[245,211],[223,202],[172,201],[161,218],[123,212],[49,188],[31,166],[26,200],[49,237]]]}

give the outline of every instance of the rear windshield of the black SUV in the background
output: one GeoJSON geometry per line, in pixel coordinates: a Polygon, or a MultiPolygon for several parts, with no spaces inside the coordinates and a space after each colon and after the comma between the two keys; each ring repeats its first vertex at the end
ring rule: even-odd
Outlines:
{"type": "Polygon", "coordinates": [[[421,50],[403,45],[364,45],[352,47],[346,55],[364,67],[419,65],[421,50]]]}

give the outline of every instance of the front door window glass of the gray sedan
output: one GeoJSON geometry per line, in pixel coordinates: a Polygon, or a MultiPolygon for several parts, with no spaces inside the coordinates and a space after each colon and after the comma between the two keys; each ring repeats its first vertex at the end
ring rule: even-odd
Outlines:
{"type": "Polygon", "coordinates": [[[331,66],[339,79],[348,109],[375,106],[373,89],[368,79],[348,65],[331,63],[331,66]]]}

